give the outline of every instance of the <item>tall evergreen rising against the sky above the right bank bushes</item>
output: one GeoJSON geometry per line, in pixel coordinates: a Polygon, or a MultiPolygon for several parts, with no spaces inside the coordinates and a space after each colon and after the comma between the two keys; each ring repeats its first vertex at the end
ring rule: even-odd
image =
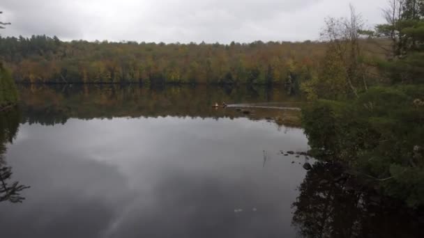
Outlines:
{"type": "Polygon", "coordinates": [[[390,57],[380,61],[394,84],[424,82],[424,1],[393,0],[384,11],[386,24],[376,28],[376,35],[391,39],[390,57]]]}

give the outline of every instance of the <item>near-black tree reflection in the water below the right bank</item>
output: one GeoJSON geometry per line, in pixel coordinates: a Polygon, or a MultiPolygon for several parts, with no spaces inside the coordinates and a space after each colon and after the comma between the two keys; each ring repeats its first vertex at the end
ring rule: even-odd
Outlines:
{"type": "Polygon", "coordinates": [[[371,191],[355,190],[341,171],[324,163],[308,171],[293,204],[292,222],[301,237],[418,237],[414,218],[381,205],[371,191]]]}

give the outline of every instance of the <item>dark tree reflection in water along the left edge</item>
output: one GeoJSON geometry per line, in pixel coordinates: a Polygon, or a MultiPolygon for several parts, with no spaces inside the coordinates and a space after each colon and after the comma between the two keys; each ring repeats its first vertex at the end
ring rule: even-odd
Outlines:
{"type": "Polygon", "coordinates": [[[10,182],[13,174],[12,168],[6,166],[3,157],[3,154],[6,153],[6,143],[12,143],[19,123],[20,113],[16,109],[0,114],[0,202],[22,203],[24,197],[20,195],[20,192],[29,188],[19,182],[10,182]]]}

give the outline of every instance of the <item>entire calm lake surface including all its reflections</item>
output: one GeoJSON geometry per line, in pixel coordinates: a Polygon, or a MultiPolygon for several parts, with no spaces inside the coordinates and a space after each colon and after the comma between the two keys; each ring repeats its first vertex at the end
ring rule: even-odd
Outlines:
{"type": "Polygon", "coordinates": [[[211,107],[298,103],[278,89],[25,86],[20,92],[19,110],[0,117],[1,167],[13,172],[2,181],[30,188],[14,191],[23,203],[0,193],[1,237],[420,232],[407,212],[368,205],[366,194],[337,187],[328,165],[307,173],[307,158],[281,154],[308,150],[308,140],[302,129],[264,118],[298,111],[255,109],[245,116],[211,107]]]}

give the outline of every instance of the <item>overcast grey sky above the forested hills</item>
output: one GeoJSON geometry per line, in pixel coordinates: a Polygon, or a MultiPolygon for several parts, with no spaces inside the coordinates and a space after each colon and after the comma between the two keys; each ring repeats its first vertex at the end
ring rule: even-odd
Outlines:
{"type": "Polygon", "coordinates": [[[62,40],[252,42],[317,40],[324,17],[347,16],[349,3],[369,26],[387,0],[1,0],[6,35],[62,40]]]}

